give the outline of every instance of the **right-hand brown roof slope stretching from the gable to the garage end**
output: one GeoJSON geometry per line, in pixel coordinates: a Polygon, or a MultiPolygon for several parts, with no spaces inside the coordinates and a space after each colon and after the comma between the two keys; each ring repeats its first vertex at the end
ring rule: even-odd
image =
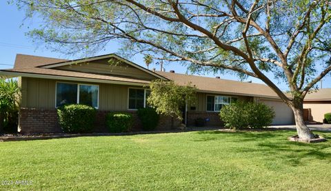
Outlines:
{"type": "Polygon", "coordinates": [[[157,73],[168,79],[171,79],[178,85],[185,85],[191,82],[192,85],[195,85],[199,89],[199,92],[278,98],[278,95],[271,88],[260,83],[248,83],[210,77],[199,77],[172,72],[157,73]]]}

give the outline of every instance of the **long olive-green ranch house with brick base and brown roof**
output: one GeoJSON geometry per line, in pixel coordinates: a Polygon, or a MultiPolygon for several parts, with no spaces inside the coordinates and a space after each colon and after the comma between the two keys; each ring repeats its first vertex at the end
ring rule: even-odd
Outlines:
{"type": "MultiPolygon", "coordinates": [[[[197,103],[183,108],[183,121],[194,125],[201,117],[206,125],[221,126],[219,110],[222,105],[241,99],[259,101],[274,108],[274,124],[293,123],[292,110],[268,86],[198,77],[174,72],[153,72],[116,54],[67,61],[47,57],[17,54],[14,68],[0,70],[1,75],[18,77],[21,86],[19,131],[59,132],[56,108],[65,103],[82,103],[97,108],[95,131],[105,130],[105,116],[110,111],[134,114],[135,128],[139,129],[136,110],[146,106],[149,90],[155,79],[173,80],[179,85],[189,82],[197,86],[197,103]]],[[[171,127],[171,117],[162,116],[159,130],[171,127]]]]}

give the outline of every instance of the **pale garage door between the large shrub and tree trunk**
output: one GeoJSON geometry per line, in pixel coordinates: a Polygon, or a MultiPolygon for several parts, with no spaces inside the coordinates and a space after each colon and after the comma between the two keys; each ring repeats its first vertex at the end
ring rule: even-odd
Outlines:
{"type": "Polygon", "coordinates": [[[294,114],[283,101],[260,99],[260,102],[274,109],[276,117],[274,117],[272,125],[289,125],[294,123],[294,114]]]}

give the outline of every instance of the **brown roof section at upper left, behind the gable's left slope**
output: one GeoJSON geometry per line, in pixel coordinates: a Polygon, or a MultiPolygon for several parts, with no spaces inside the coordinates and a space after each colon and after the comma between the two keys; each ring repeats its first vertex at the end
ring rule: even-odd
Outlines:
{"type": "Polygon", "coordinates": [[[49,57],[37,57],[26,54],[17,54],[15,59],[14,69],[34,68],[50,63],[58,63],[63,61],[68,61],[68,60],[54,59],[49,57]]]}

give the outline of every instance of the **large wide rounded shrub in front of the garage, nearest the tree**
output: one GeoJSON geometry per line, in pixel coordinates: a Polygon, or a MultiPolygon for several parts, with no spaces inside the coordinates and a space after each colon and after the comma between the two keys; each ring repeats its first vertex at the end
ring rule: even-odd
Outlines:
{"type": "Polygon", "coordinates": [[[227,128],[263,128],[272,123],[274,110],[264,103],[237,101],[223,106],[219,116],[227,128]]]}

